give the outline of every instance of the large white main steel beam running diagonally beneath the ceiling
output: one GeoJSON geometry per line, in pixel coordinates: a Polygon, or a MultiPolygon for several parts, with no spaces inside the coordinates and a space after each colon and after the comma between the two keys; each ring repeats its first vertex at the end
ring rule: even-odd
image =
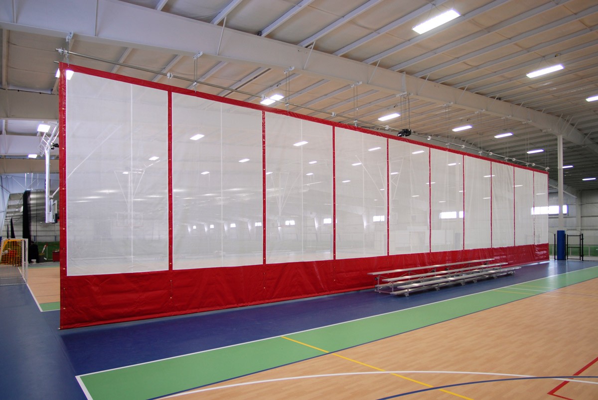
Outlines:
{"type": "MultiPolygon", "coordinates": [[[[495,1],[483,8],[496,7],[502,1],[495,1]]],[[[185,56],[197,53],[197,38],[202,38],[202,51],[206,57],[213,59],[244,63],[284,70],[289,66],[302,66],[308,56],[309,49],[273,41],[249,33],[224,28],[224,36],[220,43],[223,28],[208,23],[185,19],[156,10],[112,2],[97,0],[96,7],[80,5],[75,32],[81,41],[105,42],[136,48],[161,49],[185,56]],[[96,29],[97,27],[97,29],[96,29]],[[160,29],[156,29],[160,27],[160,29]],[[221,44],[221,45],[220,45],[221,44]],[[220,47],[219,56],[218,48],[220,47]],[[281,65],[284,60],[286,65],[281,65]]],[[[45,0],[29,0],[19,4],[19,24],[12,23],[12,13],[2,14],[0,26],[13,30],[23,30],[45,35],[53,31],[56,36],[63,36],[63,27],[72,26],[72,12],[69,5],[54,2],[48,5],[45,0]],[[45,12],[44,19],[39,19],[45,12]],[[43,22],[43,26],[41,25],[43,22]]],[[[457,19],[459,20],[459,19],[457,19]]],[[[300,68],[300,67],[297,67],[300,68]]],[[[368,81],[375,66],[367,65],[332,54],[313,51],[310,54],[309,68],[297,69],[306,75],[330,80],[344,81],[351,84],[356,81],[368,81]]],[[[584,143],[584,136],[578,130],[565,124],[553,115],[518,107],[499,100],[489,99],[479,94],[469,93],[437,83],[427,82],[421,78],[400,75],[386,69],[379,69],[363,90],[374,88],[388,93],[410,93],[411,97],[436,103],[452,103],[453,106],[482,111],[498,117],[508,116],[513,120],[527,121],[539,129],[554,135],[562,133],[573,143],[585,145],[598,153],[598,145],[584,143]],[[562,132],[559,132],[561,130],[562,132]]]]}

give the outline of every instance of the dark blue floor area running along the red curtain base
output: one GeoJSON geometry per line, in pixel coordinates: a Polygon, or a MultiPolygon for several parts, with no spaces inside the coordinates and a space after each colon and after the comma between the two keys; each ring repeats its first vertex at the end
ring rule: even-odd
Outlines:
{"type": "Polygon", "coordinates": [[[0,399],[85,398],[75,375],[290,334],[594,265],[598,261],[548,261],[526,265],[512,276],[409,297],[370,289],[65,331],[58,329],[59,312],[39,312],[28,288],[0,286],[0,399]]]}

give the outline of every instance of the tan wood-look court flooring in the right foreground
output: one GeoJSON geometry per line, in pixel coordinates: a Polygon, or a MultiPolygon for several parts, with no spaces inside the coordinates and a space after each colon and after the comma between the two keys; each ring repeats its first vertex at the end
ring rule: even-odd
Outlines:
{"type": "MultiPolygon", "coordinates": [[[[533,285],[527,290],[544,292],[533,285]]],[[[595,400],[597,310],[592,279],[176,398],[595,400]],[[594,378],[545,378],[572,375],[594,378]]]]}

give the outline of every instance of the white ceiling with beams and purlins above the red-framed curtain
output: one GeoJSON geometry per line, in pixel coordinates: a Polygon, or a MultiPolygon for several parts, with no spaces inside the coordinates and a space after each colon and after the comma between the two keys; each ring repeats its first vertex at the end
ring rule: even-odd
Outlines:
{"type": "Polygon", "coordinates": [[[56,124],[63,48],[68,62],[102,71],[252,103],[279,93],[277,108],[408,128],[548,168],[553,184],[562,135],[565,189],[598,189],[582,181],[598,178],[598,101],[585,100],[598,95],[595,0],[14,0],[0,5],[0,28],[3,172],[39,170],[39,160],[8,161],[38,152],[39,122],[56,124]],[[451,8],[460,17],[411,29],[451,8]],[[389,112],[401,117],[377,120],[389,112]]]}

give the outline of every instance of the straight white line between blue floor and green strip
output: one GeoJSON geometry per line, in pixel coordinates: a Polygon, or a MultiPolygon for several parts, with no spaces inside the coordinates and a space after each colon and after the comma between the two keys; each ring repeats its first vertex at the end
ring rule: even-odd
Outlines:
{"type": "MultiPolygon", "coordinates": [[[[598,268],[598,265],[595,265],[594,267],[584,268],[584,269],[587,270],[587,269],[591,269],[591,268],[598,268]]],[[[545,277],[538,278],[538,279],[527,280],[526,282],[521,282],[521,283],[535,282],[536,280],[547,279],[547,278],[551,278],[551,277],[555,277],[555,276],[559,276],[559,275],[564,275],[564,274],[569,274],[569,273],[573,273],[573,272],[576,272],[576,271],[570,271],[570,272],[566,272],[566,273],[563,273],[563,274],[554,274],[554,275],[545,276],[545,277]]],[[[516,283],[515,285],[520,285],[521,283],[516,283]]],[[[511,286],[514,286],[514,285],[511,285],[511,286]]],[[[568,285],[566,285],[566,286],[568,286],[568,285]]],[[[503,288],[509,288],[509,287],[510,286],[504,286],[503,288]]],[[[565,287],[565,286],[563,286],[563,287],[565,287]]],[[[280,338],[282,336],[288,336],[288,335],[294,335],[294,334],[303,333],[303,332],[314,331],[315,329],[328,328],[330,326],[342,325],[344,323],[350,323],[350,322],[355,322],[355,321],[359,321],[359,320],[370,319],[370,318],[379,317],[379,316],[388,315],[388,314],[400,313],[400,312],[403,312],[403,311],[406,311],[406,310],[413,310],[413,309],[417,309],[419,307],[425,307],[425,306],[430,306],[432,304],[444,303],[445,301],[456,300],[458,298],[465,298],[465,297],[469,297],[469,296],[472,296],[472,295],[477,295],[477,294],[492,292],[492,291],[495,291],[495,290],[496,289],[490,289],[490,290],[483,291],[483,292],[477,292],[477,293],[463,295],[463,296],[460,296],[460,297],[453,297],[453,298],[449,298],[449,299],[446,299],[446,300],[435,301],[434,303],[422,304],[420,306],[410,307],[408,309],[395,310],[395,311],[391,311],[391,312],[388,312],[388,313],[376,314],[376,315],[371,315],[371,316],[362,317],[362,318],[358,318],[358,319],[353,319],[353,320],[349,320],[349,321],[332,323],[331,325],[319,326],[317,328],[305,329],[304,331],[291,332],[291,333],[288,333],[288,334],[282,334],[282,335],[278,335],[278,336],[273,336],[273,337],[268,337],[268,338],[263,338],[263,339],[258,339],[258,340],[252,340],[252,341],[248,341],[248,342],[244,342],[244,343],[236,343],[236,344],[231,344],[229,346],[216,347],[215,349],[202,350],[200,352],[187,353],[187,354],[183,354],[183,355],[178,355],[178,356],[172,356],[172,357],[157,359],[157,360],[154,360],[154,361],[139,362],[138,364],[125,365],[123,367],[117,367],[117,368],[109,368],[108,370],[88,372],[87,374],[75,375],[75,378],[77,378],[77,381],[79,382],[79,384],[81,386],[81,389],[83,389],[83,391],[85,393],[89,393],[89,391],[87,390],[85,384],[83,383],[83,380],[81,380],[81,377],[84,377],[84,376],[87,376],[87,375],[95,375],[95,374],[101,374],[102,372],[115,371],[115,370],[123,370],[124,368],[136,367],[138,365],[152,364],[154,362],[161,362],[161,361],[166,361],[166,360],[175,359],[175,358],[192,356],[192,355],[196,355],[196,354],[200,354],[200,353],[211,352],[213,350],[221,350],[221,349],[227,349],[228,347],[242,346],[243,344],[257,343],[257,342],[264,341],[264,340],[270,340],[270,339],[274,339],[274,338],[280,338]]],[[[409,371],[405,371],[405,372],[409,372],[409,371]]],[[[411,372],[414,372],[414,371],[411,371],[411,372]]],[[[388,372],[365,372],[365,373],[388,373],[388,372]]],[[[392,373],[392,371],[390,373],[392,373]]],[[[475,373],[475,372],[468,372],[468,373],[475,373]]],[[[481,373],[483,373],[483,372],[480,372],[480,374],[481,373]]],[[[522,376],[525,377],[526,375],[522,375],[522,376]]],[[[91,399],[91,395],[89,396],[89,399],[91,399]]]]}

